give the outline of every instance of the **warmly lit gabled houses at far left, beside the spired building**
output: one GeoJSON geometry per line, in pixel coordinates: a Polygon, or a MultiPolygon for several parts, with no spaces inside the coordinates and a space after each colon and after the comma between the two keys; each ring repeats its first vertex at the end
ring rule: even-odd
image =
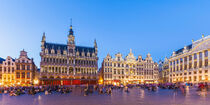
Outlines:
{"type": "Polygon", "coordinates": [[[2,85],[32,85],[37,70],[33,59],[28,58],[27,52],[20,52],[18,59],[8,56],[0,58],[0,83],[2,85]]]}

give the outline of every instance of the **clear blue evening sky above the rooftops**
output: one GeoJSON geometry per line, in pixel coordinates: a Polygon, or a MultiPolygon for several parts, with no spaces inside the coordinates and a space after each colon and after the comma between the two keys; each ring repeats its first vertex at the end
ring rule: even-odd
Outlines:
{"type": "Polygon", "coordinates": [[[108,53],[130,48],[157,62],[210,34],[210,0],[0,0],[0,57],[25,49],[39,67],[42,33],[67,43],[70,18],[76,45],[97,40],[99,67],[108,53]]]}

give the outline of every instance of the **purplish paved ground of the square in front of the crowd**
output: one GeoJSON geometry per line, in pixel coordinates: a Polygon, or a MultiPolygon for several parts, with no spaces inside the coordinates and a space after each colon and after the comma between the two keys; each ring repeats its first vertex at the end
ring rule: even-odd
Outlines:
{"type": "Polygon", "coordinates": [[[158,89],[151,92],[139,88],[130,89],[130,93],[114,90],[112,95],[83,96],[80,90],[73,93],[44,95],[43,93],[10,97],[0,95],[0,105],[210,105],[210,92],[196,92],[191,89],[182,94],[180,91],[158,89]]]}

